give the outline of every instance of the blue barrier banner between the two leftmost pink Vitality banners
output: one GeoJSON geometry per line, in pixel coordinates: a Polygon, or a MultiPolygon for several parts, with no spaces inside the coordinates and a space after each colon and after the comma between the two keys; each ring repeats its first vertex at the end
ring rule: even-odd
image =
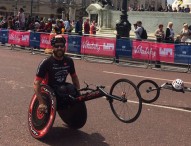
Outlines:
{"type": "Polygon", "coordinates": [[[38,32],[30,33],[30,47],[40,48],[40,33],[38,32]]]}

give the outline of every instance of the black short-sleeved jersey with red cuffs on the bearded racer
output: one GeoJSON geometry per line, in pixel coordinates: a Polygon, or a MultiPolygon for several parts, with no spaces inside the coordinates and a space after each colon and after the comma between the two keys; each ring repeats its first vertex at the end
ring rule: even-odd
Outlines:
{"type": "Polygon", "coordinates": [[[67,56],[64,56],[63,60],[50,56],[39,64],[36,80],[43,79],[44,84],[56,87],[65,84],[68,74],[76,75],[73,60],[67,56]]]}

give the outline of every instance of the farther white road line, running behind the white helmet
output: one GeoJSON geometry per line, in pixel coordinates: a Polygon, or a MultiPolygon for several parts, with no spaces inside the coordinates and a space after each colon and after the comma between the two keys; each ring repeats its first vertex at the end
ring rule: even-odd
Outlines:
{"type": "MultiPolygon", "coordinates": [[[[116,73],[116,72],[109,72],[109,71],[103,71],[103,72],[104,72],[104,73],[107,73],[107,74],[115,74],[115,75],[130,76],[130,77],[137,77],[137,78],[155,79],[155,80],[161,80],[161,81],[173,81],[173,80],[170,80],[170,79],[154,78],[154,77],[145,77],[145,76],[124,74],[124,73],[116,73]]],[[[184,83],[191,84],[191,82],[184,82],[184,83]]]]}

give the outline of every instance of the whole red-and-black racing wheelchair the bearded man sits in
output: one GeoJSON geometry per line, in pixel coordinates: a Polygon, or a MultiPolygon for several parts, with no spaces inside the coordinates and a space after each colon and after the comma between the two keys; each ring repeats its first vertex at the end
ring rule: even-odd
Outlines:
{"type": "Polygon", "coordinates": [[[56,111],[69,128],[82,128],[87,121],[85,101],[100,97],[106,97],[113,114],[121,122],[132,123],[140,116],[142,110],[141,95],[137,86],[130,80],[116,80],[109,93],[104,90],[104,86],[94,85],[94,88],[90,88],[93,85],[85,84],[84,88],[78,90],[81,94],[77,96],[68,94],[62,98],[62,101],[49,86],[41,85],[41,95],[48,109],[42,113],[39,110],[36,95],[32,96],[28,110],[28,128],[32,137],[41,139],[48,134],[54,123],[56,111]]]}

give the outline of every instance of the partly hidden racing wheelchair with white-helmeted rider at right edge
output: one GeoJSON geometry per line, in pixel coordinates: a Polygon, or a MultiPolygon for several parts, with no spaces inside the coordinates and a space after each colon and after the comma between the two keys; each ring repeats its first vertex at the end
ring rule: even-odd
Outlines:
{"type": "Polygon", "coordinates": [[[141,93],[142,101],[145,103],[155,102],[159,98],[160,91],[162,89],[168,89],[171,91],[181,93],[191,92],[191,88],[185,87],[184,82],[181,79],[175,79],[172,81],[172,83],[166,82],[161,86],[159,86],[153,80],[142,80],[138,83],[137,88],[141,93]]]}

